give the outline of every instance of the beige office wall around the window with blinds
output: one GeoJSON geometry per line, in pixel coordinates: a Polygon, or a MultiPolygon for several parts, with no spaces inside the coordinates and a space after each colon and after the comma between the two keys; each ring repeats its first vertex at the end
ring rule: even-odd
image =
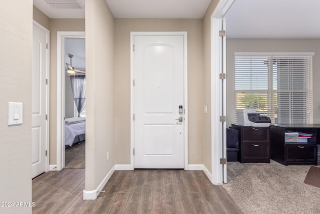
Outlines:
{"type": "Polygon", "coordinates": [[[320,123],[320,39],[227,39],[227,125],[234,123],[234,52],[315,52],[313,62],[313,123],[320,123]]]}

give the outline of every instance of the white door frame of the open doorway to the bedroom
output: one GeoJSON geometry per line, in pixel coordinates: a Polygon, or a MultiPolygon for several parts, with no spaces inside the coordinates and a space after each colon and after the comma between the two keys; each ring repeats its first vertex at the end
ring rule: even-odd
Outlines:
{"type": "Polygon", "coordinates": [[[56,37],[56,170],[65,167],[64,117],[65,117],[65,66],[64,40],[84,38],[84,31],[58,31],[56,37]]]}

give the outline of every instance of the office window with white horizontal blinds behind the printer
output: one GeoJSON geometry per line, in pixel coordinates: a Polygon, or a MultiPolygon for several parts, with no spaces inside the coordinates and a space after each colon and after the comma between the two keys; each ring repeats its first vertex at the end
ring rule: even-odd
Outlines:
{"type": "Polygon", "coordinates": [[[312,123],[313,55],[234,53],[234,113],[259,109],[275,124],[312,123]]]}

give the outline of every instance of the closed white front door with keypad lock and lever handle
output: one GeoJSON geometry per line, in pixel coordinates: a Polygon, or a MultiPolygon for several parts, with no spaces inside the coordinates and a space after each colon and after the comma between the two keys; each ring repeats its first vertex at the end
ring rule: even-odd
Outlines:
{"type": "Polygon", "coordinates": [[[134,168],[184,168],[183,75],[183,35],[134,36],[134,168]]]}

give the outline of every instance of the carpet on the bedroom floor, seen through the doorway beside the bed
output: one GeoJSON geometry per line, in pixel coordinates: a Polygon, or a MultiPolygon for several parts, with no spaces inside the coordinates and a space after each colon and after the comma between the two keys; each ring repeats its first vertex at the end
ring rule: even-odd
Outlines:
{"type": "Polygon", "coordinates": [[[65,149],[65,168],[84,168],[85,166],[85,142],[74,143],[65,149]]]}

